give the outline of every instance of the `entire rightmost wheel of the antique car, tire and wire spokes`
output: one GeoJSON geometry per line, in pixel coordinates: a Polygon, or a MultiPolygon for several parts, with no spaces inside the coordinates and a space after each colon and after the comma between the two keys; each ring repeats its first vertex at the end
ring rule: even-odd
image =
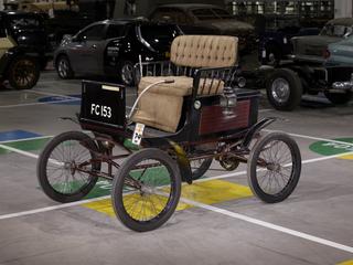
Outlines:
{"type": "Polygon", "coordinates": [[[253,193],[268,203],[284,201],[295,190],[301,171],[296,141],[284,132],[271,132],[253,148],[247,176],[253,193]]]}

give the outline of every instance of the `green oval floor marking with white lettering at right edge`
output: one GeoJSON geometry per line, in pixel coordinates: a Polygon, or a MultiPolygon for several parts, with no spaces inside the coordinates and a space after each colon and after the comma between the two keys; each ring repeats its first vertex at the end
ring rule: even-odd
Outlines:
{"type": "Polygon", "coordinates": [[[343,141],[342,144],[332,141],[317,141],[309,146],[309,149],[313,152],[322,156],[334,156],[344,152],[353,152],[353,146],[344,142],[353,144],[353,138],[338,138],[336,141],[343,141]]]}

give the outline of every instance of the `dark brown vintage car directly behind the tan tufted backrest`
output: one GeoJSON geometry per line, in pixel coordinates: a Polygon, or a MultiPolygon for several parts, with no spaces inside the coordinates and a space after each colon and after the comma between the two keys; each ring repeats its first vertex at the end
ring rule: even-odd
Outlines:
{"type": "Polygon", "coordinates": [[[257,46],[253,25],[236,20],[235,17],[213,4],[178,3],[156,8],[149,19],[176,23],[184,34],[236,35],[239,51],[252,51],[257,46]]]}

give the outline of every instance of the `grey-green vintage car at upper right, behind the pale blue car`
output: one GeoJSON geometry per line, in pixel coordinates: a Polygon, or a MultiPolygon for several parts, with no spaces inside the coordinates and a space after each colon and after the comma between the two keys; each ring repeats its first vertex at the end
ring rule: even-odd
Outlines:
{"type": "Polygon", "coordinates": [[[292,39],[293,55],[297,60],[323,63],[324,53],[331,43],[342,41],[353,33],[353,18],[330,20],[317,36],[292,39]]]}

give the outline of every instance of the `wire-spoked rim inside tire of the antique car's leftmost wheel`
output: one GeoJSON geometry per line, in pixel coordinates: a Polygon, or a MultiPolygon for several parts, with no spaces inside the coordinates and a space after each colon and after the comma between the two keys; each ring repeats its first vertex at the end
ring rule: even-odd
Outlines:
{"type": "Polygon", "coordinates": [[[90,151],[78,140],[61,142],[47,159],[47,182],[61,194],[71,195],[82,191],[89,186],[92,176],[79,169],[93,171],[93,165],[87,163],[90,159],[90,151]]]}

